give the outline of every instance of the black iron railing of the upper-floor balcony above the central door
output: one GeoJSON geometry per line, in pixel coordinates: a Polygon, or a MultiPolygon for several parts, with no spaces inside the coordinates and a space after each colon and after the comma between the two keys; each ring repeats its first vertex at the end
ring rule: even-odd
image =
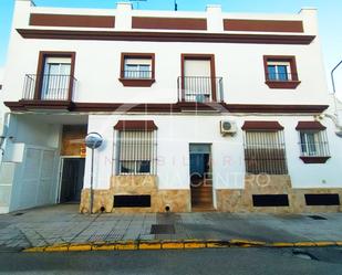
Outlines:
{"type": "Polygon", "coordinates": [[[179,76],[178,102],[219,103],[224,101],[222,77],[179,76]]]}

